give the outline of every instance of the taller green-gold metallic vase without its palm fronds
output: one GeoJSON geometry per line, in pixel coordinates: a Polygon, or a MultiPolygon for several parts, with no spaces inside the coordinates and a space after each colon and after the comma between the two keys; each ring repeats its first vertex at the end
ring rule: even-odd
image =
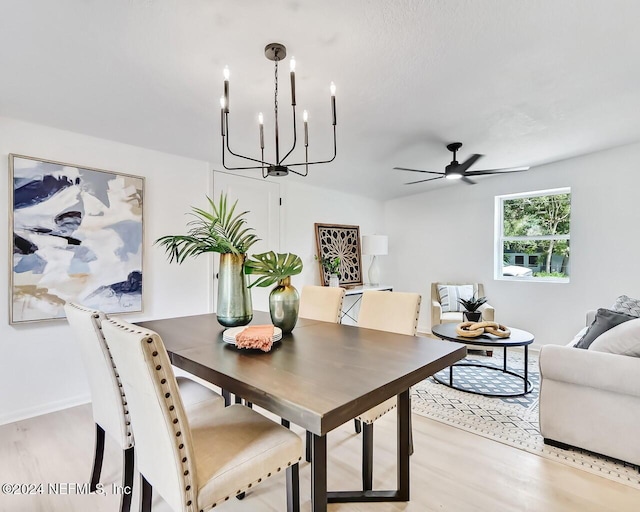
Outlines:
{"type": "Polygon", "coordinates": [[[246,257],[246,254],[220,254],[216,316],[225,327],[247,325],[253,318],[251,291],[244,273],[246,257]]]}

